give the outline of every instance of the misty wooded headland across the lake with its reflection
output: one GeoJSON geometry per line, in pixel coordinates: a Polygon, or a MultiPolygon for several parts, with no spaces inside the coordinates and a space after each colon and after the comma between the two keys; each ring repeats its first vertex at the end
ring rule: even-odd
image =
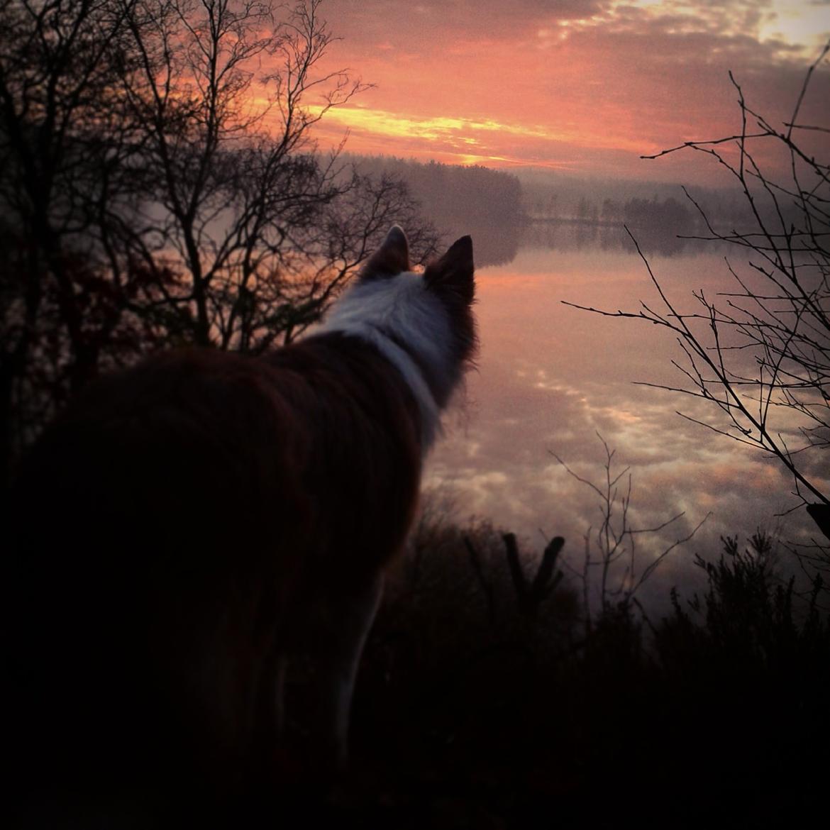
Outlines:
{"type": "Polygon", "coordinates": [[[476,265],[509,262],[526,222],[522,184],[512,173],[393,156],[350,157],[361,173],[405,182],[425,218],[448,239],[473,237],[476,265]]]}

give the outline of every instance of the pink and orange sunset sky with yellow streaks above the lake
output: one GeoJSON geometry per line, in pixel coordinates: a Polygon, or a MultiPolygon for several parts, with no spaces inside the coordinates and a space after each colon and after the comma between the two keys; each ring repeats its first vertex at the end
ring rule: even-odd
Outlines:
{"type": "MultiPolygon", "coordinates": [[[[731,134],[730,70],[783,120],[830,39],[830,0],[325,0],[320,14],[340,38],[320,68],[373,85],[325,115],[322,147],[348,133],[354,153],[614,178],[674,180],[685,157],[639,157],[731,134]]],[[[812,123],[828,95],[825,62],[812,123]]]]}

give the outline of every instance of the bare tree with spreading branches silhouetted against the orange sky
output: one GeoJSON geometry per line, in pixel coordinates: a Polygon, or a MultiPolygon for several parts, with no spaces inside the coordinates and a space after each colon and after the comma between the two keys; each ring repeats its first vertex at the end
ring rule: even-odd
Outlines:
{"type": "Polygon", "coordinates": [[[332,40],[319,5],[300,3],[284,22],[265,2],[126,9],[134,60],[121,81],[154,179],[131,242],[148,267],[183,268],[181,291],[164,301],[198,344],[249,339],[259,283],[273,293],[285,261],[307,253],[305,227],[342,190],[334,164],[308,152],[308,128],[362,85],[313,74],[332,40]],[[324,103],[312,115],[304,97],[317,88],[324,103]]]}

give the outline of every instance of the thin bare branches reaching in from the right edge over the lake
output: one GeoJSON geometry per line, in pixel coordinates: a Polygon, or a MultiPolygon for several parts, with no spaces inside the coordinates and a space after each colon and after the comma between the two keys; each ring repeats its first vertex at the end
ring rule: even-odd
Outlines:
{"type": "Polygon", "coordinates": [[[675,334],[683,359],[672,364],[684,376],[684,385],[644,385],[705,401],[719,417],[683,417],[776,458],[793,477],[796,506],[808,505],[830,538],[830,167],[805,146],[818,139],[819,151],[826,153],[824,136],[830,129],[800,120],[810,83],[828,51],[830,43],[810,66],[793,114],[781,127],[750,107],[730,75],[740,106],[736,134],[688,141],[644,157],[683,149],[700,152],[715,159],[740,188],[745,205],[740,231],[715,227],[706,208],[686,191],[706,228],[688,238],[725,243],[745,260],[742,267],[726,258],[734,286],[716,298],[695,291],[698,309],[682,312],[629,231],[659,305],[588,310],[647,320],[675,334]],[[769,173],[776,151],[786,161],[785,176],[769,173]]]}

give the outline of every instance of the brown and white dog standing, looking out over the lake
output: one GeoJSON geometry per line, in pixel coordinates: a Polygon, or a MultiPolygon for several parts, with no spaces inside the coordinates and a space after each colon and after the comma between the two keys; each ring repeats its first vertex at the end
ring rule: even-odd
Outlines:
{"type": "Polygon", "coordinates": [[[10,502],[24,790],[220,798],[344,762],[384,570],[476,349],[473,299],[470,237],[413,272],[395,226],[305,339],[158,354],[46,430],[10,502]]]}

